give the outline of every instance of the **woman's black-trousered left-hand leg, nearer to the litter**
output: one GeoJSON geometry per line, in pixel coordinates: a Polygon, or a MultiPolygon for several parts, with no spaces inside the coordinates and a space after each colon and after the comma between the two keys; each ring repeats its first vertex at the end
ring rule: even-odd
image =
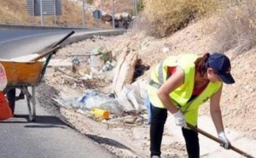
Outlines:
{"type": "Polygon", "coordinates": [[[160,156],[160,147],[167,118],[167,110],[154,107],[152,104],[150,104],[150,106],[152,107],[150,121],[150,152],[151,156],[160,156]]]}

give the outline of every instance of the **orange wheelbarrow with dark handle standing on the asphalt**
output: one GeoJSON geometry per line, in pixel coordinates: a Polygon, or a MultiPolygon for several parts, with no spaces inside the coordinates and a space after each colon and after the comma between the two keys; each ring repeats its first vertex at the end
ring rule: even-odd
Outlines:
{"type": "MultiPolygon", "coordinates": [[[[8,84],[3,89],[3,93],[9,93],[12,89],[20,89],[20,92],[26,96],[28,116],[30,121],[35,121],[36,117],[36,87],[40,84],[46,67],[49,64],[49,59],[52,54],[60,47],[60,43],[65,41],[67,37],[70,37],[74,31],[70,32],[66,37],[63,37],[60,42],[57,42],[49,51],[39,54],[34,59],[29,61],[11,61],[11,60],[0,60],[3,65],[8,84]],[[28,87],[31,87],[31,92],[28,87]],[[31,106],[32,103],[32,106],[31,106]]],[[[9,104],[14,104],[15,106],[15,93],[12,96],[7,96],[9,99],[9,104]],[[13,102],[13,103],[10,103],[13,102]]]]}

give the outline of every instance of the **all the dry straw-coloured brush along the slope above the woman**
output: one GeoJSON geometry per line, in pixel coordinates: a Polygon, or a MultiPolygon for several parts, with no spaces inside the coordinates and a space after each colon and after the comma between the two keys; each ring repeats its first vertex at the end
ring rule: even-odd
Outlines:
{"type": "Polygon", "coordinates": [[[210,49],[239,55],[256,44],[255,8],[256,0],[144,0],[134,30],[167,37],[191,21],[202,20],[203,33],[213,36],[210,49]]]}

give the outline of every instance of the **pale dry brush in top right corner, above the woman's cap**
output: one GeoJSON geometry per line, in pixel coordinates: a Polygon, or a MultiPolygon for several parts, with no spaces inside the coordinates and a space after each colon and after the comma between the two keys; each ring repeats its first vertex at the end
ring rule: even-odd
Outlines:
{"type": "Polygon", "coordinates": [[[233,49],[237,56],[256,44],[256,1],[230,1],[223,6],[214,20],[208,20],[206,29],[215,32],[212,49],[233,49]]]}

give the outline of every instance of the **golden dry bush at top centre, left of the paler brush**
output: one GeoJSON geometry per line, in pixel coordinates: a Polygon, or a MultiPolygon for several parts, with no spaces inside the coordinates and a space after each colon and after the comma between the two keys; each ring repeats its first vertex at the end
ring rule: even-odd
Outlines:
{"type": "Polygon", "coordinates": [[[142,25],[149,35],[166,37],[216,8],[216,0],[146,0],[142,25]]]}

